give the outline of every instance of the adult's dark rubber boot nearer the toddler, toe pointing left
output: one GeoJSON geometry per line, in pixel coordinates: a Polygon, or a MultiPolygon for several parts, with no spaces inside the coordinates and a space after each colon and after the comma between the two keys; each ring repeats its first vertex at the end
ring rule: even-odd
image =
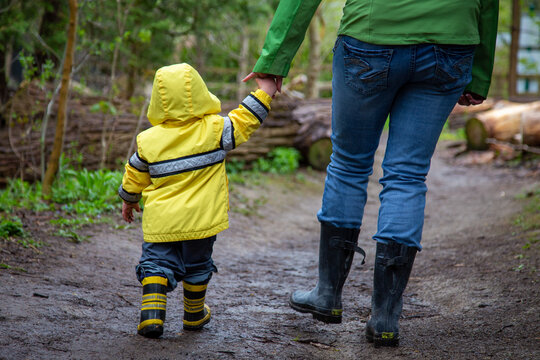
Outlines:
{"type": "Polygon", "coordinates": [[[321,223],[319,281],[313,290],[298,290],[291,295],[289,305],[294,310],[311,313],[314,319],[325,323],[341,323],[341,290],[349,275],[354,253],[356,251],[366,257],[364,250],[357,245],[359,233],[359,229],[321,223]]]}

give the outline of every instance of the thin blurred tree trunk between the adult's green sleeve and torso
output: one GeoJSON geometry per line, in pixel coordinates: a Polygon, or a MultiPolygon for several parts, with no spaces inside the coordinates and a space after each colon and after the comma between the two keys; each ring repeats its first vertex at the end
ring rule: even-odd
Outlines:
{"type": "Polygon", "coordinates": [[[319,33],[319,12],[317,9],[309,25],[309,62],[307,67],[307,82],[304,94],[307,99],[319,97],[318,81],[321,73],[321,36],[319,33]]]}

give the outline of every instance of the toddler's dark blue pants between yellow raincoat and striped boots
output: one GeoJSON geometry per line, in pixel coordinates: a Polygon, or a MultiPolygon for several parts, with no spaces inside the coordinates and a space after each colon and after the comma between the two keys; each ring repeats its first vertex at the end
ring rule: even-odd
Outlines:
{"type": "Polygon", "coordinates": [[[214,235],[198,240],[143,242],[141,259],[135,268],[137,279],[165,277],[167,291],[173,291],[182,280],[190,284],[207,282],[217,272],[212,260],[215,241],[214,235]]]}

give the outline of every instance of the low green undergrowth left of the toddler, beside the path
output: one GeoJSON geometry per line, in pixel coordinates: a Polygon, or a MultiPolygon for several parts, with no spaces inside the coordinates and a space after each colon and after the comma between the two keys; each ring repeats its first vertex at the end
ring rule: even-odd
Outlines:
{"type": "Polygon", "coordinates": [[[81,242],[78,230],[84,225],[107,221],[103,214],[118,209],[118,186],[122,181],[120,171],[87,169],[77,170],[73,161],[62,157],[52,196],[42,198],[41,183],[28,183],[12,179],[0,190],[0,238],[20,238],[24,247],[40,247],[41,242],[31,239],[16,216],[7,218],[2,214],[16,211],[49,212],[50,223],[57,229],[55,235],[73,242],[81,242]]]}

